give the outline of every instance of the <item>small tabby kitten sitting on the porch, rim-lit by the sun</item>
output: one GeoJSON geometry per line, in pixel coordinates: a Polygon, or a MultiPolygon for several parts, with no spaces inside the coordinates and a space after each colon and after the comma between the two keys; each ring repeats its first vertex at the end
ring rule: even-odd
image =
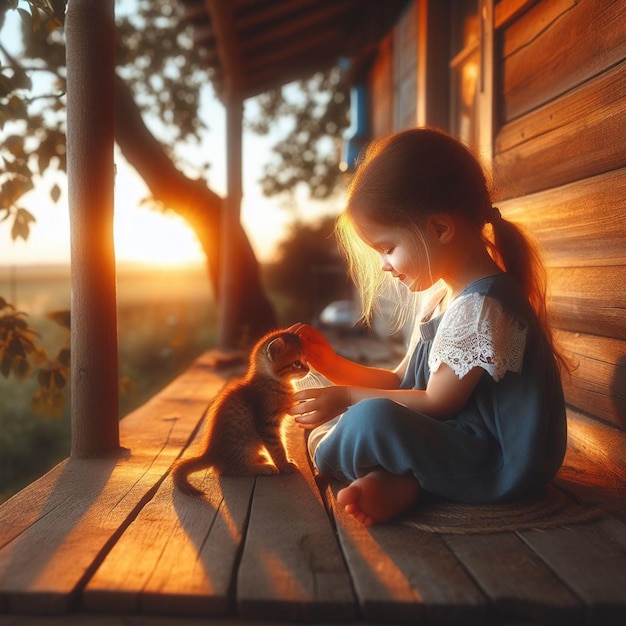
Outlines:
{"type": "Polygon", "coordinates": [[[229,382],[207,409],[204,452],[174,465],[176,486],[188,494],[202,492],[189,484],[192,472],[213,467],[222,475],[256,476],[290,473],[280,426],[291,408],[291,380],[306,376],[302,343],[294,333],[273,331],[250,353],[244,376],[229,382]],[[265,448],[274,465],[261,454],[265,448]]]}

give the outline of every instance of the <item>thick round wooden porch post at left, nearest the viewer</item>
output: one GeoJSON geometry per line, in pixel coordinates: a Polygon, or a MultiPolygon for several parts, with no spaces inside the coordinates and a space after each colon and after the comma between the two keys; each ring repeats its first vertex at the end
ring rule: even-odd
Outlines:
{"type": "Polygon", "coordinates": [[[73,457],[119,450],[113,249],[114,0],[70,0],[67,175],[72,255],[73,457]]]}

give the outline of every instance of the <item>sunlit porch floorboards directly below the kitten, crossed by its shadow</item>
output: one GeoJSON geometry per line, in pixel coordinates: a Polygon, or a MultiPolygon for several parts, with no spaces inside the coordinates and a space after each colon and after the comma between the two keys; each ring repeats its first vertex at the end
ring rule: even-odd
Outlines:
{"type": "Polygon", "coordinates": [[[168,478],[83,594],[100,612],[226,615],[254,479],[206,476],[203,497],[168,478]]]}

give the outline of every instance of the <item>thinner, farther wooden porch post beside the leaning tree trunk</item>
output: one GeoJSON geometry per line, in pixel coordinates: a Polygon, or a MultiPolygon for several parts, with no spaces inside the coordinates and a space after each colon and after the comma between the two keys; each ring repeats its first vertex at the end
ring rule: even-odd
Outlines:
{"type": "Polygon", "coordinates": [[[222,205],[220,232],[220,301],[218,344],[224,350],[238,347],[240,337],[235,325],[239,297],[239,221],[242,197],[242,120],[243,99],[237,90],[229,90],[226,98],[226,176],[227,196],[222,205]]]}

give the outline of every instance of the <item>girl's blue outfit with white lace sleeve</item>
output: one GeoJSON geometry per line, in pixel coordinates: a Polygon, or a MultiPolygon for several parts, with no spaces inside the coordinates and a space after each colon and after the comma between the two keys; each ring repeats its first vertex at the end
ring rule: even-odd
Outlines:
{"type": "Polygon", "coordinates": [[[363,400],[312,431],[318,470],[349,482],[377,468],[412,472],[425,492],[467,503],[540,491],[565,454],[565,403],[554,355],[517,281],[477,280],[419,331],[401,388],[425,389],[440,362],[459,376],[479,365],[486,372],[461,412],[442,421],[385,398],[363,400]],[[456,326],[444,319],[455,311],[456,326]],[[459,320],[466,328],[457,333],[459,320]]]}

